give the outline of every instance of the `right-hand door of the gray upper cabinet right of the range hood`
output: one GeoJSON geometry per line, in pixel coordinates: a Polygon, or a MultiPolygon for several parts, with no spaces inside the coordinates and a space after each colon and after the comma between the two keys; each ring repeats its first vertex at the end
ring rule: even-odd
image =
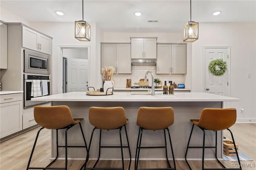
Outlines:
{"type": "Polygon", "coordinates": [[[186,44],[172,44],[172,74],[186,74],[186,44]]]}

